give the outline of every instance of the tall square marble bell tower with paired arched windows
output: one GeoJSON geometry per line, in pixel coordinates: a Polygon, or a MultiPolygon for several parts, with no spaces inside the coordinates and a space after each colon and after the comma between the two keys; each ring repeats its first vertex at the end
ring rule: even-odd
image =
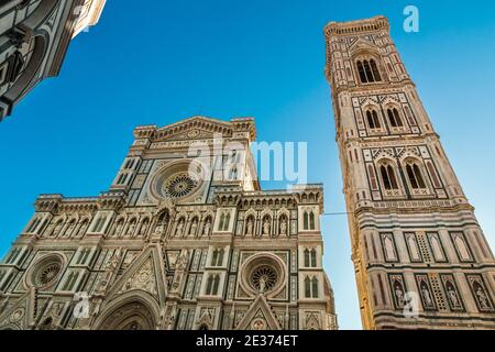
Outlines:
{"type": "Polygon", "coordinates": [[[324,34],[363,327],[495,329],[493,253],[387,19],[324,34]]]}

